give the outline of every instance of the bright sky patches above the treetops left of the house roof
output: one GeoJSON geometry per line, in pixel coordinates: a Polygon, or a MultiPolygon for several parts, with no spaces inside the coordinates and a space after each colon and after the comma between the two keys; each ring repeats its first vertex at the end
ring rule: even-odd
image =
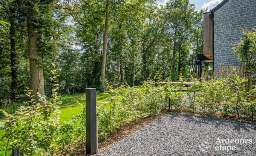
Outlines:
{"type": "MultiPolygon", "coordinates": [[[[162,0],[158,1],[158,4],[164,5],[168,0],[162,0]]],[[[196,10],[200,10],[201,8],[213,9],[215,6],[217,6],[219,3],[221,3],[222,0],[189,0],[190,3],[195,4],[196,10]]]]}

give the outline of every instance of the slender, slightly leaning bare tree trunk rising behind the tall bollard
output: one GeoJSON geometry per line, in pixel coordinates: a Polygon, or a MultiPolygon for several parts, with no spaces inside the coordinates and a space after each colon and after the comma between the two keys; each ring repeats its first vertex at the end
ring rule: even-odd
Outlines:
{"type": "Polygon", "coordinates": [[[106,17],[105,17],[105,30],[103,37],[103,55],[101,65],[101,78],[102,84],[105,85],[105,69],[106,69],[106,57],[107,57],[107,32],[109,30],[109,0],[106,1],[106,17]]]}

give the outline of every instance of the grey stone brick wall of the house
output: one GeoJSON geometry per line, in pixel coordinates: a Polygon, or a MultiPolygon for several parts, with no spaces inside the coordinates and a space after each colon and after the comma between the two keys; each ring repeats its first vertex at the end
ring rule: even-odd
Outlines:
{"type": "Polygon", "coordinates": [[[232,47],[242,36],[242,28],[256,26],[256,0],[229,0],[214,13],[214,71],[219,66],[239,66],[232,47]],[[233,43],[233,45],[231,45],[233,43]]]}

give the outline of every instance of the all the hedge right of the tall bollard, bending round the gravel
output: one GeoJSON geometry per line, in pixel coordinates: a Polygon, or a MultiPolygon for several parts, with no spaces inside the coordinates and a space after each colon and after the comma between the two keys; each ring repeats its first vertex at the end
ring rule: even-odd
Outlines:
{"type": "Polygon", "coordinates": [[[121,86],[114,89],[107,85],[111,92],[107,93],[109,103],[97,107],[100,138],[113,133],[132,119],[158,114],[160,110],[167,108],[168,98],[171,106],[177,110],[199,111],[203,114],[239,117],[253,114],[256,110],[255,101],[250,102],[247,96],[247,80],[239,77],[235,70],[227,78],[193,81],[187,92],[182,92],[182,77],[173,87],[170,79],[166,82],[165,86],[157,87],[152,80],[145,81],[140,87],[121,86]]]}

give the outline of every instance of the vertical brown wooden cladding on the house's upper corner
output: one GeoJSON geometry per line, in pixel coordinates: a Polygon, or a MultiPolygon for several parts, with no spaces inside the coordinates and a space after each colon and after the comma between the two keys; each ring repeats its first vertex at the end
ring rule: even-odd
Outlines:
{"type": "Polygon", "coordinates": [[[204,56],[213,58],[213,20],[210,17],[211,12],[204,13],[204,56]]]}

